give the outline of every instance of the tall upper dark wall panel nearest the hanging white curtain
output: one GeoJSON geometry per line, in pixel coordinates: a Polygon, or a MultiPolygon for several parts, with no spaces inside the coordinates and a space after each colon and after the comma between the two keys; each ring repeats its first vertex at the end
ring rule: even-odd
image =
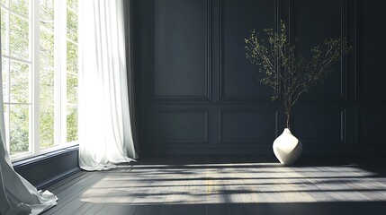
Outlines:
{"type": "Polygon", "coordinates": [[[153,97],[209,99],[208,1],[153,4],[153,97]]]}

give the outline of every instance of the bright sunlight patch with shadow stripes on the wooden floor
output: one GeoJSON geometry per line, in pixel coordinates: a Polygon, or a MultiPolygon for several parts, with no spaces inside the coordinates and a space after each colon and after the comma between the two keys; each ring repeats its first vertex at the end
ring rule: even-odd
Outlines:
{"type": "Polygon", "coordinates": [[[142,164],[122,169],[96,181],[80,200],[137,205],[386,201],[386,178],[354,165],[142,164]]]}

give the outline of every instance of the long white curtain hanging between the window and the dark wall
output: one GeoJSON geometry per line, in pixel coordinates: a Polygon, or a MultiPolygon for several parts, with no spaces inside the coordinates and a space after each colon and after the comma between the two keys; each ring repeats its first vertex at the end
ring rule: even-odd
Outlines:
{"type": "Polygon", "coordinates": [[[79,166],[137,158],[130,126],[123,0],[79,4],[79,166]]]}

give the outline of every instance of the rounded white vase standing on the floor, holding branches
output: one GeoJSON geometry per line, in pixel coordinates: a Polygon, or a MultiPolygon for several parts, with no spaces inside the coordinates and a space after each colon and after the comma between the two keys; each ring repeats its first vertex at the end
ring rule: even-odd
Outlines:
{"type": "Polygon", "coordinates": [[[292,135],[290,129],[284,128],[283,133],[274,140],[274,155],[284,165],[291,165],[301,156],[301,141],[292,135]]]}

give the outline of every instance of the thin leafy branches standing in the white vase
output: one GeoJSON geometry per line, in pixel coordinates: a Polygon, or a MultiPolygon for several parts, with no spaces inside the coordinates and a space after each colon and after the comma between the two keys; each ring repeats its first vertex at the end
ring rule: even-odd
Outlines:
{"type": "MultiPolygon", "coordinates": [[[[312,56],[307,62],[304,56],[297,54],[296,39],[287,39],[286,27],[283,21],[280,30],[265,29],[262,39],[256,30],[246,42],[246,57],[256,64],[260,76],[259,82],[279,90],[287,116],[286,126],[290,128],[292,107],[303,92],[323,79],[333,71],[332,65],[347,55],[351,47],[347,46],[346,38],[326,39],[323,46],[311,49],[312,56]]],[[[278,99],[277,96],[272,97],[278,99]]]]}

